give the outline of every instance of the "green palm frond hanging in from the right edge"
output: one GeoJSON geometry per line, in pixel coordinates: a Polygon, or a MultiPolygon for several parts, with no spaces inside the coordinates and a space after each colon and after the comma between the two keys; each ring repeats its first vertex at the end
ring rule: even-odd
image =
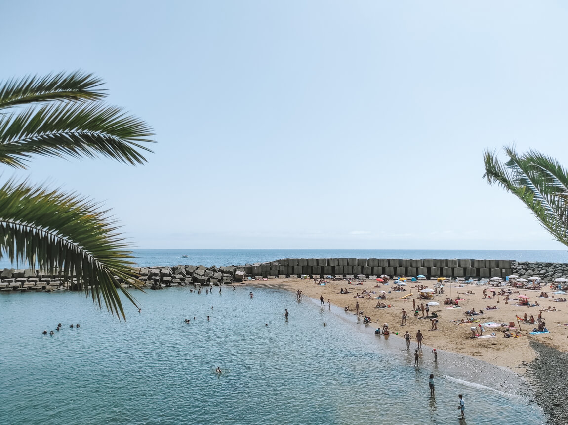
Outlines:
{"type": "Polygon", "coordinates": [[[485,174],[490,185],[498,184],[515,194],[541,225],[559,242],[568,245],[568,173],[557,160],[529,151],[519,155],[506,147],[509,157],[500,163],[494,152],[484,152],[485,174]]]}

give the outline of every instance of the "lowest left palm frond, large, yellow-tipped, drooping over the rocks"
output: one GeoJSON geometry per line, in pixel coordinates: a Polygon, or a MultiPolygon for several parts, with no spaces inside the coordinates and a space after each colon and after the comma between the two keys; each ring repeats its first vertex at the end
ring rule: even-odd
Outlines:
{"type": "Polygon", "coordinates": [[[95,303],[119,317],[119,290],[135,299],[118,279],[141,282],[131,268],[130,251],[107,211],[73,193],[9,181],[0,188],[0,258],[27,261],[44,273],[62,274],[95,303]]]}

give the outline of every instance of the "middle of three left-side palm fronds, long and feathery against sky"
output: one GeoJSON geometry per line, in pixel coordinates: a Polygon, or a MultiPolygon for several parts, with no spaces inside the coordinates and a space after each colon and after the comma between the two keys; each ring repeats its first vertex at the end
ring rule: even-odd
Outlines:
{"type": "Polygon", "coordinates": [[[102,155],[130,164],[146,161],[140,143],[153,143],[143,120],[119,107],[95,102],[56,103],[28,107],[0,116],[0,163],[27,168],[31,155],[95,157],[102,155]]]}

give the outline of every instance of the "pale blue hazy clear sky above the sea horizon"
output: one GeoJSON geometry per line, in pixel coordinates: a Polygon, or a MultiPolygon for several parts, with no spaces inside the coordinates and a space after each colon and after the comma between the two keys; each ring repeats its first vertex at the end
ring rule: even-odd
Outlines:
{"type": "Polygon", "coordinates": [[[563,249],[482,176],[511,144],[568,166],[567,9],[2,2],[0,80],[93,72],[157,143],[1,178],[101,202],[133,248],[563,249]]]}

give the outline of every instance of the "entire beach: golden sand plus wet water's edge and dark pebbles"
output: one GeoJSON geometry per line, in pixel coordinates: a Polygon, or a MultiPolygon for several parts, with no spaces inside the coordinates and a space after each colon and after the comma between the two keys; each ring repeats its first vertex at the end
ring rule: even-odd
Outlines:
{"type": "MultiPolygon", "coordinates": [[[[566,361],[568,354],[563,352],[567,351],[568,343],[568,326],[563,326],[562,311],[568,311],[566,303],[547,301],[552,298],[537,298],[536,295],[541,291],[521,290],[521,293],[529,293],[531,301],[541,301],[541,305],[548,307],[548,305],[557,306],[560,311],[543,312],[542,315],[546,319],[546,327],[550,329],[549,334],[529,335],[528,331],[532,330],[531,324],[521,323],[521,332],[519,338],[503,338],[503,334],[499,331],[494,331],[491,328],[486,332],[491,334],[495,332],[499,334],[495,338],[469,338],[468,325],[458,325],[452,320],[461,320],[465,318],[462,313],[456,311],[463,310],[445,310],[441,301],[449,296],[449,288],[444,294],[437,295],[436,301],[440,301],[440,306],[436,306],[435,310],[438,313],[438,331],[428,331],[431,324],[427,319],[416,319],[409,314],[407,326],[399,326],[402,308],[407,311],[412,310],[412,297],[408,299],[399,299],[400,297],[393,296],[393,294],[410,294],[409,288],[405,293],[387,294],[387,302],[390,303],[390,309],[374,309],[377,299],[355,299],[353,295],[357,293],[356,288],[362,289],[376,289],[374,282],[364,281],[363,285],[347,285],[347,281],[331,281],[325,286],[315,285],[313,280],[302,279],[271,279],[271,280],[252,280],[243,282],[248,286],[255,286],[261,288],[275,288],[290,291],[302,290],[302,295],[312,299],[316,306],[319,305],[319,296],[325,299],[325,307],[328,306],[328,300],[332,306],[335,306],[338,311],[341,311],[345,306],[353,307],[356,302],[360,303],[360,310],[364,311],[364,315],[371,317],[371,324],[367,325],[371,328],[381,327],[383,323],[389,323],[391,330],[390,338],[398,340],[400,344],[404,344],[402,333],[407,330],[412,335],[411,348],[416,347],[414,334],[417,329],[421,329],[424,338],[424,356],[430,355],[431,347],[435,347],[440,353],[438,361],[443,357],[448,357],[454,362],[454,371],[457,374],[466,376],[467,380],[475,382],[489,388],[506,392],[508,394],[517,394],[527,399],[527,402],[536,402],[542,410],[544,410],[547,419],[552,423],[553,421],[566,420],[568,422],[568,407],[564,403],[557,403],[561,400],[565,392],[566,384],[563,384],[563,374],[557,370],[557,365],[566,361]],[[338,294],[340,288],[348,286],[349,294],[338,294]],[[354,290],[353,292],[351,292],[354,290]],[[408,307],[407,307],[408,306],[408,307]],[[563,308],[562,308],[563,307],[563,308]],[[377,313],[380,312],[380,313],[377,313]],[[380,320],[379,320],[380,319],[380,320]],[[555,323],[556,322],[556,323],[555,323]],[[426,329],[426,330],[425,330],[426,329]],[[396,335],[399,332],[399,335],[396,335]],[[545,337],[545,338],[542,338],[545,337]],[[544,353],[544,354],[543,354],[544,353]],[[462,361],[459,361],[459,360],[462,361]],[[464,365],[469,369],[469,375],[464,373],[464,365]],[[546,366],[544,366],[546,365],[546,366]],[[486,382],[480,382],[479,371],[487,369],[487,366],[492,366],[491,376],[492,379],[486,382]],[[493,369],[494,368],[494,369],[493,369]],[[502,373],[496,373],[496,371],[502,373]],[[558,376],[558,378],[557,378],[558,376]],[[562,383],[562,385],[559,385],[562,383]],[[554,402],[551,402],[554,401],[554,402]]],[[[432,285],[435,281],[420,281],[412,282],[413,284],[432,285]]],[[[392,285],[381,285],[382,288],[388,288],[392,285]]],[[[449,285],[446,285],[446,287],[449,285]]],[[[490,286],[481,285],[463,285],[460,288],[452,288],[452,295],[463,296],[462,293],[468,290],[473,291],[475,294],[467,294],[466,301],[462,302],[464,307],[475,307],[479,310],[479,303],[486,305],[496,305],[496,299],[483,299],[481,292],[483,288],[492,288],[490,286]]],[[[544,291],[550,293],[550,288],[542,288],[544,291]]],[[[413,293],[416,295],[416,291],[413,293]]],[[[482,307],[485,307],[482,306],[482,307]]],[[[500,299],[498,310],[488,310],[483,314],[483,318],[479,323],[495,321],[508,323],[515,320],[515,311],[521,316],[525,311],[532,313],[536,317],[539,313],[536,311],[540,307],[522,307],[508,303],[504,305],[503,299],[500,299]],[[535,313],[536,312],[536,313],[535,313]],[[503,320],[501,320],[503,319],[503,320]],[[507,320],[506,320],[507,319],[507,320]]],[[[356,323],[356,312],[349,310],[349,314],[353,316],[353,323],[356,323]]],[[[478,316],[479,317],[479,316],[478,316]]],[[[477,324],[477,323],[476,323],[477,324]]],[[[497,328],[496,328],[497,329],[497,328]]],[[[383,338],[383,337],[381,337],[383,338]]],[[[556,422],[557,423],[557,422],[556,422]]]]}

